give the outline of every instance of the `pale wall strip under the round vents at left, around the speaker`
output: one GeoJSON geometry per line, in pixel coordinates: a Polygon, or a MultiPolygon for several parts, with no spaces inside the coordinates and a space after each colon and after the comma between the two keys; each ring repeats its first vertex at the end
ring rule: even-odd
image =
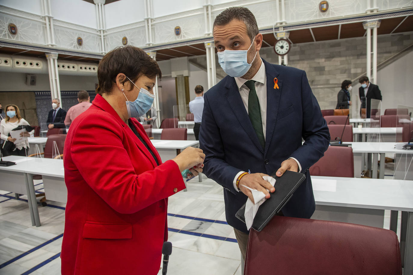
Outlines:
{"type": "MultiPolygon", "coordinates": [[[[59,75],[61,91],[95,90],[97,76],[59,75]]],[[[26,85],[26,73],[0,73],[0,91],[50,91],[49,75],[36,74],[36,86],[26,85]]]]}

